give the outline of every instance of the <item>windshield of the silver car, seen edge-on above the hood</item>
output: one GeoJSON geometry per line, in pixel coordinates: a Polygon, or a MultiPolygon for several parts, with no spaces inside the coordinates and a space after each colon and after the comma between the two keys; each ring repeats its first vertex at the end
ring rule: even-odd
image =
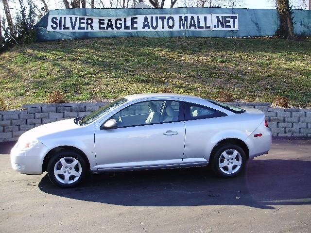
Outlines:
{"type": "Polygon", "coordinates": [[[127,100],[125,98],[115,100],[111,103],[106,104],[104,107],[102,107],[99,110],[91,113],[90,115],[81,117],[80,125],[87,125],[87,124],[93,122],[94,120],[103,116],[104,114],[111,111],[112,109],[120,106],[121,104],[125,103],[126,101],[127,100]]]}

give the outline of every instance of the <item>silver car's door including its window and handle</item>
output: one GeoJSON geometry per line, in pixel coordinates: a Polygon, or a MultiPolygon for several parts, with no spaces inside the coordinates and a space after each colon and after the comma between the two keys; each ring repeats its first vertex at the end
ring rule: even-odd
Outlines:
{"type": "Polygon", "coordinates": [[[95,131],[97,168],[181,164],[183,110],[182,101],[153,100],[132,104],[111,116],[117,121],[116,129],[95,131]]]}

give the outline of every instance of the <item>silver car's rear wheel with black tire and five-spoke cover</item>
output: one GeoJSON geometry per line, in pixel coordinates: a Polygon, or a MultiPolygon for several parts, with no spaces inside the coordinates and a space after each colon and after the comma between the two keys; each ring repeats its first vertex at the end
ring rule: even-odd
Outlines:
{"type": "Polygon", "coordinates": [[[226,144],[223,146],[220,146],[215,153],[213,153],[211,158],[211,168],[213,170],[213,172],[220,177],[223,178],[232,178],[232,177],[236,177],[244,168],[245,168],[245,164],[246,164],[246,155],[244,150],[234,144],[226,144]],[[238,154],[236,156],[233,155],[234,150],[236,150],[238,152],[238,154]],[[227,151],[227,153],[229,153],[228,155],[230,155],[230,153],[232,152],[232,154],[230,156],[232,156],[232,160],[230,157],[228,157],[227,159],[225,159],[225,156],[223,155],[223,152],[227,151]],[[240,156],[239,156],[240,154],[240,156]],[[242,161],[239,161],[242,160],[242,161]],[[239,167],[238,165],[235,165],[236,163],[241,163],[241,166],[239,167]],[[226,165],[222,168],[220,167],[219,163],[223,164],[225,163],[226,165]],[[228,166],[227,166],[228,165],[228,166]],[[230,168],[229,166],[231,166],[232,168],[232,173],[230,174],[230,168]]]}

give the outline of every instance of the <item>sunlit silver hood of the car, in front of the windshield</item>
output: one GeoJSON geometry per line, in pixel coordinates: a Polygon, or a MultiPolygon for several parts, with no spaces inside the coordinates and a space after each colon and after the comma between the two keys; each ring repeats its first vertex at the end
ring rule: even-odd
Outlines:
{"type": "Polygon", "coordinates": [[[61,133],[64,131],[74,130],[77,128],[81,128],[81,126],[75,124],[73,119],[60,120],[56,122],[52,122],[49,124],[40,125],[35,127],[25,133],[23,133],[18,140],[24,139],[38,139],[41,137],[51,135],[54,133],[61,133]]]}

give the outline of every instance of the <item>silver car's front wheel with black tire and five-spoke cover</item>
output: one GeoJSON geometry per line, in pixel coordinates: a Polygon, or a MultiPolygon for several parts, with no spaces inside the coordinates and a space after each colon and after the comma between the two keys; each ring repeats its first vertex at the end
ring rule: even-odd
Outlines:
{"type": "Polygon", "coordinates": [[[62,188],[75,187],[79,185],[85,179],[87,170],[88,169],[87,169],[85,159],[79,153],[72,151],[72,150],[61,150],[59,152],[56,152],[55,154],[53,154],[53,156],[51,157],[48,163],[48,175],[49,175],[50,181],[56,186],[62,187],[62,188]],[[63,164],[60,162],[62,158],[64,158],[66,163],[67,162],[69,163],[68,164],[69,166],[65,166],[65,167],[63,166],[63,164]],[[78,164],[75,165],[74,167],[71,167],[70,164],[75,160],[78,161],[78,164]],[[60,172],[64,172],[64,174],[63,173],[58,174],[58,175],[54,174],[54,167],[56,164],[57,164],[56,170],[59,170],[60,172]],[[61,171],[61,169],[63,170],[61,171]],[[74,172],[77,172],[75,174],[80,174],[80,176],[78,177],[78,176],[74,176],[70,174],[74,172]],[[68,183],[66,183],[65,175],[69,177],[68,183]]]}

